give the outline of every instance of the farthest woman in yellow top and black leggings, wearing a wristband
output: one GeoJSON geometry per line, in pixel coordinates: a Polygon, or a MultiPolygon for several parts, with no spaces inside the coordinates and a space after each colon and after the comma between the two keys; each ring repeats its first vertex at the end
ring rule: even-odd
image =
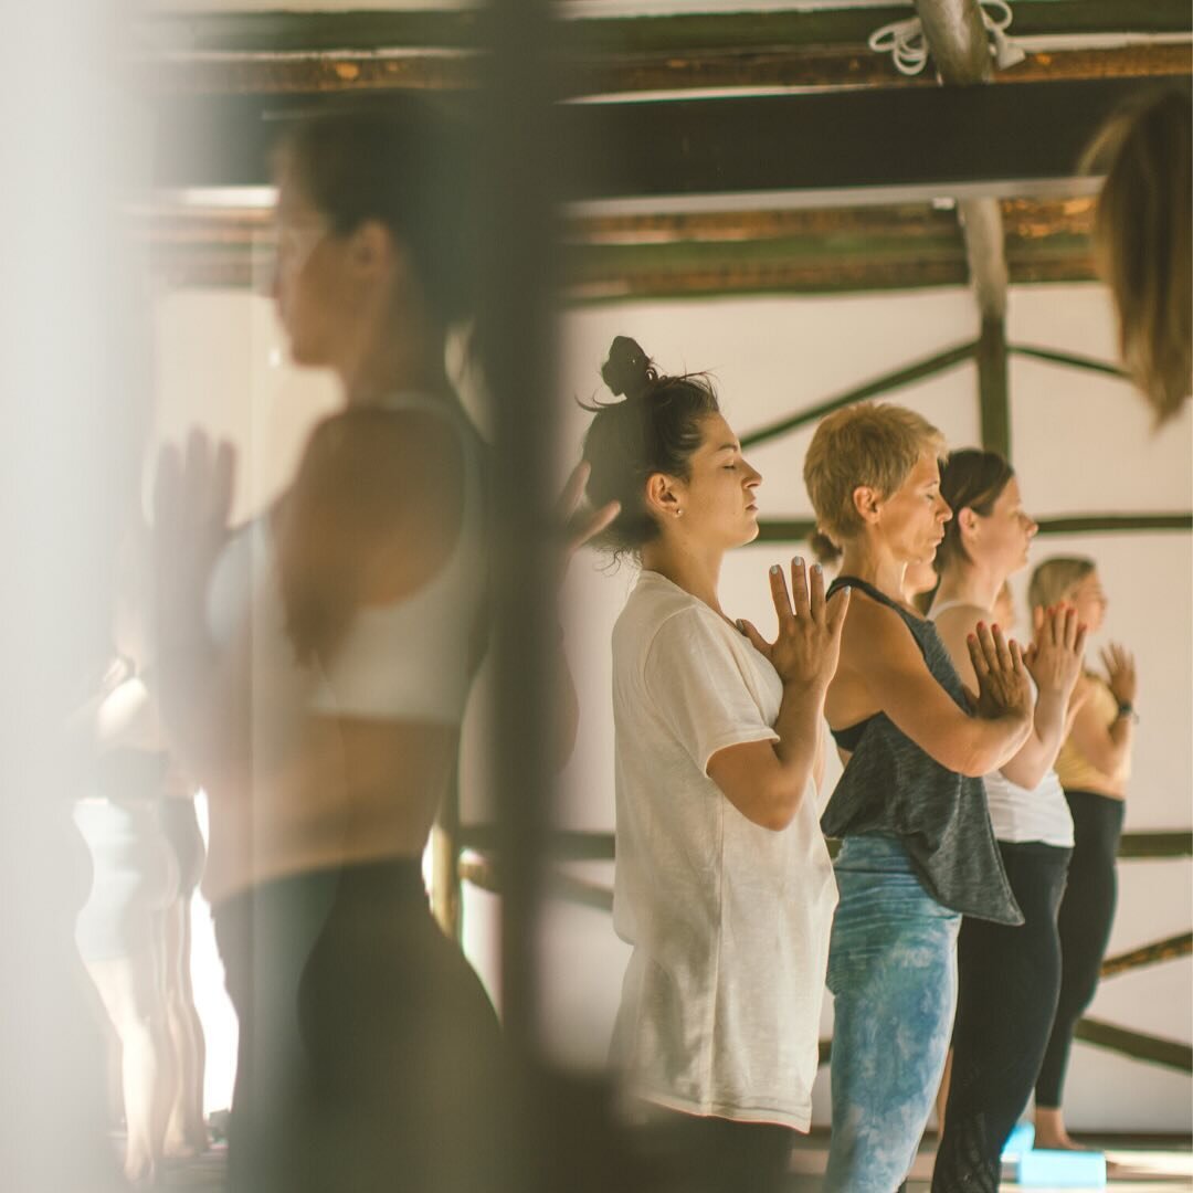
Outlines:
{"type": "MultiPolygon", "coordinates": [[[[1093,560],[1055,557],[1032,573],[1033,604],[1071,604],[1090,633],[1102,628],[1108,601],[1093,560]]],[[[1119,836],[1135,748],[1135,657],[1111,644],[1102,653],[1105,678],[1089,670],[1078,681],[1081,705],[1061,747],[1056,772],[1073,814],[1074,847],[1061,901],[1061,993],[1044,1061],[1036,1081],[1036,1142],[1075,1148],[1064,1126],[1062,1100],[1073,1033],[1094,999],[1118,901],[1119,836]]]]}

